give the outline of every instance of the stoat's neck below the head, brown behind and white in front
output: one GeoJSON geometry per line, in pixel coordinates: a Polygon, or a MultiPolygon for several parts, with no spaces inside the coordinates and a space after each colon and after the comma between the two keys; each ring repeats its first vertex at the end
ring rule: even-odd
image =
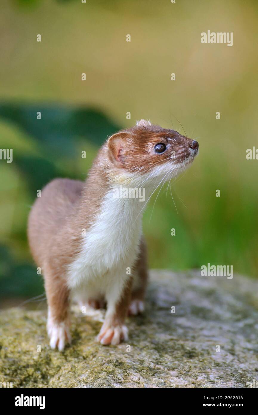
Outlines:
{"type": "Polygon", "coordinates": [[[129,229],[139,227],[152,189],[145,186],[147,183],[137,187],[142,181],[141,177],[137,182],[136,176],[113,168],[107,157],[99,154],[85,181],[79,202],[77,214],[82,228],[95,225],[103,226],[103,230],[104,226],[110,229],[107,224],[111,223],[112,227],[123,229],[121,233],[125,236],[129,229]]]}

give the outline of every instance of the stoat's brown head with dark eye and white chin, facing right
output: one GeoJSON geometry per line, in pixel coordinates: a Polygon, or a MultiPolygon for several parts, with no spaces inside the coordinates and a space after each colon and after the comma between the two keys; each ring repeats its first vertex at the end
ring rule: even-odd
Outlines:
{"type": "Polygon", "coordinates": [[[112,135],[107,142],[109,159],[121,174],[150,178],[166,174],[168,179],[193,161],[198,147],[197,141],[145,120],[112,135]]]}

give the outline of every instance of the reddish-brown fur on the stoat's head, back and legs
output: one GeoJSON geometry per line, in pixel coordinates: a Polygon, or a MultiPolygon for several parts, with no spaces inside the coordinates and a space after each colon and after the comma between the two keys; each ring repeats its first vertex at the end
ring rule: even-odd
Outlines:
{"type": "MultiPolygon", "coordinates": [[[[100,149],[85,183],[55,179],[42,190],[29,214],[28,239],[34,260],[44,275],[49,312],[54,322],[69,324],[67,268],[80,253],[82,229],[88,230],[94,224],[114,175],[122,171],[146,173],[153,166],[168,161],[172,149],[176,151],[176,162],[185,160],[187,163],[191,142],[173,130],[139,125],[110,137],[100,149]],[[153,146],[160,142],[168,146],[164,154],[153,152],[153,146]]],[[[143,300],[148,277],[144,239],[140,242],[139,259],[134,268],[139,284],[132,299],[143,300]]],[[[114,314],[109,316],[112,325],[123,324],[131,287],[130,278],[114,314]]]]}

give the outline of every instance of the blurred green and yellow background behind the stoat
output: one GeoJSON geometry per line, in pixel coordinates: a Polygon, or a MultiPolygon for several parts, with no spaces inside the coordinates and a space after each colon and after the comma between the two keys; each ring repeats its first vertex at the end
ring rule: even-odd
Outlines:
{"type": "Polygon", "coordinates": [[[144,215],[150,267],[210,262],[257,278],[258,161],[246,160],[258,147],[257,1],[2,0],[1,9],[0,147],[13,149],[12,163],[0,160],[2,307],[44,291],[26,238],[37,189],[84,179],[107,135],[141,118],[183,132],[181,123],[200,143],[171,186],[175,205],[164,186],[144,215]],[[208,29],[233,32],[233,46],[201,44],[208,29]]]}

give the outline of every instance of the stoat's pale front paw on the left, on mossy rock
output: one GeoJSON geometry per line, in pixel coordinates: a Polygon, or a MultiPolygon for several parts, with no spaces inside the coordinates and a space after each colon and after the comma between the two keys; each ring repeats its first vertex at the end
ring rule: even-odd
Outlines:
{"type": "Polygon", "coordinates": [[[71,343],[71,335],[67,322],[54,323],[50,320],[47,323],[47,332],[50,338],[49,345],[51,349],[58,347],[59,352],[62,352],[66,342],[71,343]]]}

